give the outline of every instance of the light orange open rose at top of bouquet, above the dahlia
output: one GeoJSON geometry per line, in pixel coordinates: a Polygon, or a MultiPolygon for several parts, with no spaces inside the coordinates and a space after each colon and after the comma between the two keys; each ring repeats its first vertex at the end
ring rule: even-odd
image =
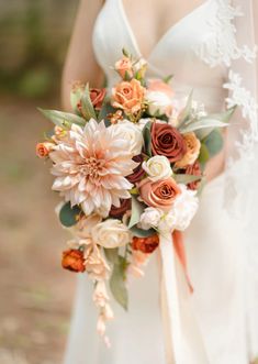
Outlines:
{"type": "Polygon", "coordinates": [[[112,89],[112,106],[134,114],[142,109],[146,89],[133,78],[131,81],[122,81],[112,89]]]}

